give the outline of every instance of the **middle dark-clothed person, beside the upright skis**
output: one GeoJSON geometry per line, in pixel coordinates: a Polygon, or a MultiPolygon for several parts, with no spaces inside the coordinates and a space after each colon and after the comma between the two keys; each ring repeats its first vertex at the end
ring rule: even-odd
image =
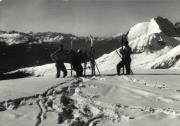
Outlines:
{"type": "Polygon", "coordinates": [[[80,49],[77,50],[77,53],[72,57],[72,66],[76,71],[77,77],[83,75],[83,67],[81,63],[83,62],[83,55],[80,49]]]}

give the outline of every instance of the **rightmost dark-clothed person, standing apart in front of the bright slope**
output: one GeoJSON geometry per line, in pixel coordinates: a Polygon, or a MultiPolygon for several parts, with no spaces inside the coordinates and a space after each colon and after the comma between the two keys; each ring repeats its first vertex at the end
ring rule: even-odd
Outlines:
{"type": "Polygon", "coordinates": [[[123,46],[120,48],[120,54],[122,56],[122,60],[117,64],[116,70],[117,74],[120,75],[120,69],[125,66],[126,74],[129,75],[131,72],[131,53],[132,50],[128,45],[128,41],[126,36],[123,37],[123,46]]]}

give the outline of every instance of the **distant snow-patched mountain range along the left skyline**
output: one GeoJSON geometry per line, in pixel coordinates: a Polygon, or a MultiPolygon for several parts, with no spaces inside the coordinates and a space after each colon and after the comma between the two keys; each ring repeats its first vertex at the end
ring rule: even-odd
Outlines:
{"type": "Polygon", "coordinates": [[[38,32],[38,33],[23,33],[18,31],[0,31],[0,43],[6,45],[15,45],[21,43],[37,44],[42,42],[61,42],[63,40],[78,37],[72,34],[63,34],[56,32],[38,32]]]}

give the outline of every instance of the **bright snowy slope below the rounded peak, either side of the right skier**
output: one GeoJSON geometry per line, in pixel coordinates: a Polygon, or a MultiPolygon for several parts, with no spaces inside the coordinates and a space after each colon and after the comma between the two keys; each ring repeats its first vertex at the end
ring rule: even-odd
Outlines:
{"type": "MultiPolygon", "coordinates": [[[[133,69],[167,69],[179,68],[180,66],[180,45],[170,48],[164,47],[154,52],[143,52],[131,55],[133,69]]],[[[116,69],[116,65],[121,61],[116,51],[104,54],[97,59],[98,66],[102,71],[111,71],[116,69]]]]}

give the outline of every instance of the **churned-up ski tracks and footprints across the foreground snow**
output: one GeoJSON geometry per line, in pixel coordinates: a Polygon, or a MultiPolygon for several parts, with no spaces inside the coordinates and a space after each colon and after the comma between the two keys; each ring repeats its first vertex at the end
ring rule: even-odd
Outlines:
{"type": "MultiPolygon", "coordinates": [[[[133,77],[122,76],[120,77],[126,81],[138,82],[138,84],[144,84],[144,81],[133,79],[133,77]]],[[[132,112],[148,112],[148,113],[164,113],[171,115],[174,118],[180,118],[180,113],[176,112],[172,108],[153,108],[148,106],[132,106],[123,104],[109,104],[94,100],[96,97],[90,97],[81,91],[81,88],[85,88],[86,82],[91,80],[105,81],[105,77],[92,77],[92,78],[79,78],[70,79],[64,83],[50,87],[43,94],[36,94],[27,98],[19,98],[14,100],[8,100],[0,102],[0,108],[16,109],[23,105],[27,105],[29,101],[34,101],[39,107],[39,113],[37,113],[36,123],[34,126],[42,126],[43,122],[46,121],[47,112],[55,112],[58,115],[57,123],[62,125],[69,124],[70,126],[95,126],[102,119],[108,119],[114,123],[121,121],[128,121],[136,119],[132,112]],[[59,88],[60,85],[70,83],[65,87],[59,88]],[[29,100],[29,101],[28,101],[29,100]]],[[[150,86],[150,85],[145,85],[150,86]]],[[[159,88],[153,85],[154,88],[159,88]]],[[[95,87],[93,87],[95,88],[95,87]]],[[[166,89],[164,85],[161,89],[166,89]]],[[[126,88],[130,90],[130,88],[126,88]]],[[[134,93],[140,93],[147,96],[154,96],[155,94],[148,93],[142,90],[131,90],[134,93]]],[[[163,99],[159,97],[159,99],[163,99]]]]}

